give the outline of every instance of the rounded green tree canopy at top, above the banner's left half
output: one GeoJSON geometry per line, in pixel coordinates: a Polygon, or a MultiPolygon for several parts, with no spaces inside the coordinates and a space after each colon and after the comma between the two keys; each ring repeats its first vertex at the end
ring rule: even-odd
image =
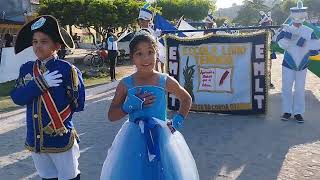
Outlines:
{"type": "Polygon", "coordinates": [[[176,21],[181,16],[195,21],[202,20],[209,10],[215,10],[214,3],[210,0],[160,0],[154,6],[159,7],[162,16],[170,21],[176,21]]]}

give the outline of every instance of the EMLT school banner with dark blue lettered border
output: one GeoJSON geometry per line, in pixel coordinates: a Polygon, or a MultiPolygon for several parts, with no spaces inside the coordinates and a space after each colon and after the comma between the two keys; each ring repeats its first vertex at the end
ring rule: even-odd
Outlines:
{"type": "MultiPolygon", "coordinates": [[[[206,39],[168,36],[169,75],[191,95],[194,111],[265,113],[267,36],[267,33],[214,35],[206,39]]],[[[171,94],[168,107],[179,108],[179,101],[171,94]]]]}

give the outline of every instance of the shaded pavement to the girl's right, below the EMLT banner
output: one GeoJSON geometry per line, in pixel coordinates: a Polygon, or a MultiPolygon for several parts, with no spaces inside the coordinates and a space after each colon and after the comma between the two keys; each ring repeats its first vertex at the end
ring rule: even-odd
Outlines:
{"type": "Polygon", "coordinates": [[[306,97],[304,124],[280,120],[280,94],[270,95],[265,117],[190,114],[182,133],[200,179],[277,179],[290,148],[320,139],[320,102],[311,91],[306,97]]]}

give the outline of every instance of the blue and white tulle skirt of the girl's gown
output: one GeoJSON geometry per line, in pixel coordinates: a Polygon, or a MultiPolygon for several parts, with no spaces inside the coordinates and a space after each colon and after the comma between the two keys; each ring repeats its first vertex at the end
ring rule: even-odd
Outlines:
{"type": "Polygon", "coordinates": [[[159,154],[150,154],[143,122],[126,121],[104,161],[101,180],[198,180],[193,156],[180,132],[170,132],[165,121],[153,129],[159,154]]]}

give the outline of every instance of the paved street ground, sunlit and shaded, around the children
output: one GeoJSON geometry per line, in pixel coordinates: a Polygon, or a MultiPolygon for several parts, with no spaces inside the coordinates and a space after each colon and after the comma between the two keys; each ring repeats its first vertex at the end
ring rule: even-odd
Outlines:
{"type": "MultiPolygon", "coordinates": [[[[280,60],[273,64],[276,89],[270,91],[266,116],[189,115],[182,133],[201,180],[320,179],[320,79],[308,73],[306,123],[282,122],[280,64],[280,60]]],[[[110,86],[90,90],[86,110],[75,116],[85,180],[98,179],[107,149],[123,123],[106,119],[114,90],[101,92],[110,86]]],[[[30,153],[23,148],[24,111],[1,116],[0,179],[39,179],[30,153]]]]}

